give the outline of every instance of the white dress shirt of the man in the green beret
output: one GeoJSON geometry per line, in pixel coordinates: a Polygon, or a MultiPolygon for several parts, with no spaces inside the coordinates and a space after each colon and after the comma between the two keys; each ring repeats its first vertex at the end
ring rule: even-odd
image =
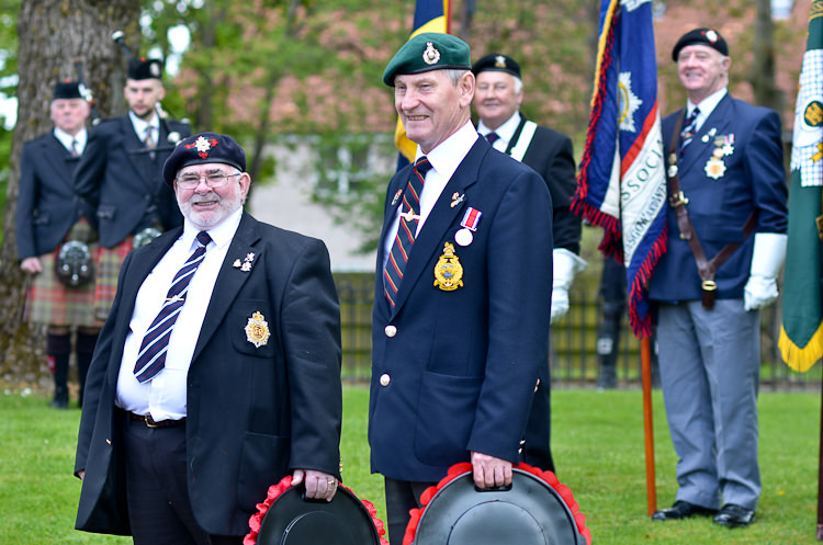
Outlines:
{"type": "MultiPolygon", "coordinates": [[[[420,220],[417,223],[417,231],[415,237],[422,229],[422,225],[426,223],[426,218],[431,214],[431,209],[435,207],[437,200],[440,197],[440,193],[443,192],[443,188],[451,180],[454,171],[458,170],[460,163],[463,161],[469,150],[472,149],[474,143],[477,141],[477,130],[472,125],[472,122],[466,122],[456,133],[451,135],[446,140],[441,141],[435,149],[426,154],[429,162],[431,163],[431,170],[426,173],[426,180],[422,184],[422,193],[420,194],[420,220]]],[[[417,146],[417,154],[415,155],[415,162],[417,159],[424,156],[420,146],[417,146]]],[[[403,185],[403,191],[406,186],[403,185]]],[[[383,254],[383,268],[386,266],[386,260],[392,251],[394,245],[394,238],[397,236],[397,228],[401,225],[401,213],[408,212],[402,211],[403,205],[397,207],[397,212],[394,215],[391,229],[386,235],[384,242],[384,254],[383,254]]]]}

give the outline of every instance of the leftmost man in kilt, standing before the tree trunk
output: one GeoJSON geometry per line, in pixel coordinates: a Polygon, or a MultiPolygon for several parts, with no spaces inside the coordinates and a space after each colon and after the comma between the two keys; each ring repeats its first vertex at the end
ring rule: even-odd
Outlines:
{"type": "Polygon", "coordinates": [[[75,197],[71,183],[86,147],[89,116],[89,104],[80,94],[78,82],[61,81],[55,86],[50,116],[54,129],[23,146],[16,245],[20,268],[33,279],[25,318],[48,327],[46,354],[55,381],[50,406],[66,409],[71,330],[77,329],[75,350],[82,404],[86,372],[102,325],[93,313],[91,265],[98,252],[97,218],[92,207],[75,197]],[[60,258],[67,242],[77,251],[70,263],[65,252],[60,258]]]}

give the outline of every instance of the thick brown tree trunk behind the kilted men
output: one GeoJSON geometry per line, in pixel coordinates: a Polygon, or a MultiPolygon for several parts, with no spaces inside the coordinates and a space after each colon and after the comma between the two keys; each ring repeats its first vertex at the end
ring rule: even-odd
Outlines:
{"type": "Polygon", "coordinates": [[[122,89],[125,59],[111,38],[122,30],[138,43],[139,0],[23,0],[18,19],[20,80],[18,122],[12,139],[3,240],[0,246],[0,379],[37,386],[48,371],[43,331],[21,320],[25,277],[18,263],[14,216],[23,143],[52,129],[48,104],[54,83],[77,79],[83,63],[86,82],[102,116],[125,111],[122,89]]]}

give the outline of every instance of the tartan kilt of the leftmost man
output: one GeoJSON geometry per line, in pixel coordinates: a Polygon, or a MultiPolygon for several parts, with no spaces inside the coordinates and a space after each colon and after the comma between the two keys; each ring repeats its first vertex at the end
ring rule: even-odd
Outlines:
{"type": "MultiPolygon", "coordinates": [[[[71,227],[64,242],[79,240],[87,243],[92,260],[97,261],[100,253],[97,239],[97,231],[81,219],[71,227]]],[[[29,286],[24,319],[48,326],[99,328],[102,322],[94,318],[94,281],[80,287],[69,287],[57,280],[55,266],[60,246],[50,253],[37,257],[43,272],[34,275],[29,286]]]]}

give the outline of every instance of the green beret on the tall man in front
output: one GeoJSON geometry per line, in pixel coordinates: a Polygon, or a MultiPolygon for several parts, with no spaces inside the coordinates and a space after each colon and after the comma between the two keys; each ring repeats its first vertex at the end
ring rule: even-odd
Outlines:
{"type": "Polygon", "coordinates": [[[451,34],[425,32],[412,37],[388,61],[383,83],[394,87],[394,77],[429,70],[472,69],[469,44],[451,34]]]}

